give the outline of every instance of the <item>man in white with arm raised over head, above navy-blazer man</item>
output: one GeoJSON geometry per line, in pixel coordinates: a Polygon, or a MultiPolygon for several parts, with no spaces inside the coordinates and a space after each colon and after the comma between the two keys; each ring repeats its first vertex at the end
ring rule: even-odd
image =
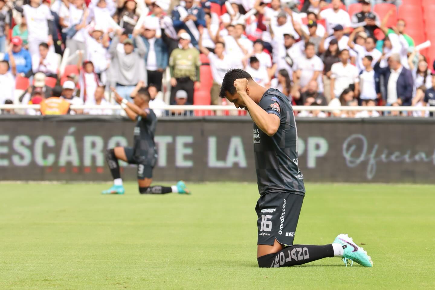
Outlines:
{"type": "Polygon", "coordinates": [[[364,33],[364,27],[358,27],[352,31],[348,41],[349,47],[358,54],[356,57],[356,66],[359,71],[365,68],[365,66],[362,64],[362,60],[366,55],[370,55],[373,58],[371,63],[372,67],[375,66],[375,64],[378,62],[378,59],[381,58],[382,55],[382,53],[375,48],[377,40],[374,37],[366,37],[364,40],[364,46],[354,43],[353,40],[355,35],[360,33],[364,33]]]}

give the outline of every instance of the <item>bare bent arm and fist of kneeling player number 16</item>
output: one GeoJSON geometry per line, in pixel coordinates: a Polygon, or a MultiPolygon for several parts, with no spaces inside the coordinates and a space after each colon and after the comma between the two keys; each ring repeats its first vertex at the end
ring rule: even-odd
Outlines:
{"type": "Polygon", "coordinates": [[[268,136],[273,136],[281,123],[280,118],[275,114],[269,114],[264,111],[256,102],[254,102],[248,95],[248,80],[246,78],[238,78],[234,81],[234,87],[246,108],[251,115],[252,120],[257,124],[258,128],[261,129],[268,136]]]}

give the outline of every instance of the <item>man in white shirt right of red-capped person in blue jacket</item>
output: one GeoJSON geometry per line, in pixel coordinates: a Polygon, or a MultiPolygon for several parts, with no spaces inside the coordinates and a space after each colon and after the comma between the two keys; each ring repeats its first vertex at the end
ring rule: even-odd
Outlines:
{"type": "Polygon", "coordinates": [[[39,53],[32,55],[32,71],[34,74],[43,72],[47,77],[57,78],[57,55],[49,51],[48,44],[39,44],[39,53]]]}

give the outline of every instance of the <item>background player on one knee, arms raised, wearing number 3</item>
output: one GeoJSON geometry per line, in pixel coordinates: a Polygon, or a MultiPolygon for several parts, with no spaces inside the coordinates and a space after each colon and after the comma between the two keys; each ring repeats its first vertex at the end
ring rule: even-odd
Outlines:
{"type": "Polygon", "coordinates": [[[139,183],[139,192],[141,194],[189,193],[182,181],[172,186],[150,186],[153,180],[153,168],[157,161],[157,150],[154,144],[157,117],[148,106],[150,94],[147,88],[140,88],[137,91],[134,103],[121,98],[114,88],[112,88],[112,91],[114,91],[116,101],[125,110],[127,116],[132,121],[136,121],[136,126],[134,127],[134,147],[115,147],[107,150],[106,160],[114,179],[114,185],[102,193],[124,194],[125,190],[122,185],[118,159],[130,164],[137,164],[137,182],[139,183]]]}

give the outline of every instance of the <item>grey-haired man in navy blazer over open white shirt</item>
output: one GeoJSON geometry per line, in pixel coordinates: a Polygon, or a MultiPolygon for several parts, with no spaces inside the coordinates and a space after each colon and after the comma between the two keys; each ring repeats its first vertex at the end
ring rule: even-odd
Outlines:
{"type": "MultiPolygon", "coordinates": [[[[385,55],[381,57],[383,59],[385,55]]],[[[412,73],[400,63],[400,54],[391,54],[388,66],[380,67],[381,59],[375,64],[375,71],[384,77],[385,101],[387,106],[410,106],[414,80],[412,73]]],[[[378,86],[377,86],[378,87],[378,86]]],[[[379,93],[379,87],[377,93],[379,93]]]]}

